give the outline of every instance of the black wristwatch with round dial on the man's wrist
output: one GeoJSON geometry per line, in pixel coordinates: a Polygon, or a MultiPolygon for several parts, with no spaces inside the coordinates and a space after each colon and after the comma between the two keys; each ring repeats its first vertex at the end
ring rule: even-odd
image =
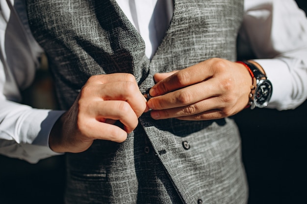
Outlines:
{"type": "Polygon", "coordinates": [[[245,67],[249,69],[253,77],[253,86],[252,91],[250,93],[249,103],[251,105],[251,109],[254,109],[255,107],[266,107],[272,96],[272,83],[270,82],[270,80],[268,80],[266,75],[262,73],[254,64],[246,61],[243,61],[242,64],[246,65],[245,67]]]}

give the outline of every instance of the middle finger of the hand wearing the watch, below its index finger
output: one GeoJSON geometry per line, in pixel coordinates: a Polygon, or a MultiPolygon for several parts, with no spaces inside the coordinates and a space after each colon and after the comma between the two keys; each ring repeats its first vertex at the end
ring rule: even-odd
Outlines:
{"type": "Polygon", "coordinates": [[[152,110],[164,110],[194,104],[220,95],[222,91],[219,89],[218,83],[218,79],[211,78],[193,86],[153,97],[147,102],[147,106],[152,110]]]}

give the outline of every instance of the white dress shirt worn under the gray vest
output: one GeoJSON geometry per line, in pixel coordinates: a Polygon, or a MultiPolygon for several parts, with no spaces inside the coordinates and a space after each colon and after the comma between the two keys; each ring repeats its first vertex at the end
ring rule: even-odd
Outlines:
{"type": "MultiPolygon", "coordinates": [[[[172,18],[173,0],[117,0],[151,58],[172,18]],[[150,19],[155,23],[149,23],[150,19]],[[164,24],[163,24],[164,23],[164,24]]],[[[240,49],[255,53],[273,84],[268,108],[294,109],[307,98],[307,19],[294,0],[245,0],[240,49]]],[[[0,154],[35,163],[57,155],[51,128],[63,111],[21,105],[43,52],[32,37],[23,0],[0,0],[0,154]],[[13,5],[12,5],[13,4],[13,5]]]]}

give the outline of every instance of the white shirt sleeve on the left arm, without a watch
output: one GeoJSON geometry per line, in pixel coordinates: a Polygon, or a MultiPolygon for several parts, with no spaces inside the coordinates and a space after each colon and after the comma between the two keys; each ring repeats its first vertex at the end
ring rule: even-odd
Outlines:
{"type": "Polygon", "coordinates": [[[63,112],[20,104],[20,90],[32,83],[41,50],[7,2],[0,1],[0,154],[35,163],[58,155],[48,140],[63,112]]]}

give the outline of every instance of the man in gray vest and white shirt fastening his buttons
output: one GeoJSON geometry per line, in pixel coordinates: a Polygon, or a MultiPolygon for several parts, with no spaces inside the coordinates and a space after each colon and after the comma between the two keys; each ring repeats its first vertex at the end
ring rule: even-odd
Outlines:
{"type": "Polygon", "coordinates": [[[27,14],[67,110],[10,102],[29,82],[3,52],[1,152],[32,162],[79,153],[67,154],[67,203],[245,203],[240,139],[228,116],[248,104],[282,110],[306,99],[306,17],[285,0],[246,0],[244,10],[235,0],[154,1],[148,9],[129,2],[15,1],[16,15],[1,1],[11,11],[3,9],[3,20],[24,32],[11,35],[17,47],[32,51],[21,52],[25,60],[36,51],[27,14]],[[241,25],[244,45],[274,59],[234,62],[241,25]]]}

